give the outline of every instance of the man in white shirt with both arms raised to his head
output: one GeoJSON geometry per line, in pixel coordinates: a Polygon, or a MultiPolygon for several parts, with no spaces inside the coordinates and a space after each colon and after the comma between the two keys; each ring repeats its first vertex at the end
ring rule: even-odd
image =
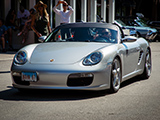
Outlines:
{"type": "Polygon", "coordinates": [[[70,23],[70,17],[74,10],[71,6],[68,5],[66,1],[58,1],[57,5],[54,6],[53,10],[57,15],[60,16],[60,24],[70,23]],[[63,4],[63,11],[57,9],[60,4],[63,4]]]}

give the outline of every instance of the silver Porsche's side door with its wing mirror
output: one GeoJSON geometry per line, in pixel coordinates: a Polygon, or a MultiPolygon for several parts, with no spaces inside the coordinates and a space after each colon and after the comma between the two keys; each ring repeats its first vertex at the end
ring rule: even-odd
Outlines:
{"type": "Polygon", "coordinates": [[[122,44],[122,56],[123,56],[123,73],[122,75],[127,77],[133,73],[138,66],[138,60],[140,55],[140,45],[137,43],[137,38],[134,36],[125,36],[121,27],[119,27],[119,37],[122,44]]]}

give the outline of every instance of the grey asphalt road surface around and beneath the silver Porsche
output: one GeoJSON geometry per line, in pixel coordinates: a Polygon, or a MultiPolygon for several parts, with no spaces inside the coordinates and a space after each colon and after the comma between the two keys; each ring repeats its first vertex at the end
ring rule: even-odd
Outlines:
{"type": "Polygon", "coordinates": [[[0,54],[0,120],[160,120],[160,43],[151,43],[152,74],[130,79],[116,94],[12,88],[13,53],[0,54]]]}

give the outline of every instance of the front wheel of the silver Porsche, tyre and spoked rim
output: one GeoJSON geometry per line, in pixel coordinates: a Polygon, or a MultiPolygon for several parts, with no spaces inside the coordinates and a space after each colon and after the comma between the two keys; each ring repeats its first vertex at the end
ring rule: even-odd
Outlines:
{"type": "Polygon", "coordinates": [[[115,58],[112,62],[111,69],[111,81],[110,81],[110,93],[118,92],[121,84],[122,72],[121,72],[121,64],[118,58],[115,58]]]}

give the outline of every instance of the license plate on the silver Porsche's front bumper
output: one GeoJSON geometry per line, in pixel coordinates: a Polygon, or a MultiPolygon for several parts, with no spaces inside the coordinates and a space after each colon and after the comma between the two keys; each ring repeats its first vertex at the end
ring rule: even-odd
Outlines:
{"type": "Polygon", "coordinates": [[[33,72],[22,72],[22,81],[36,82],[37,74],[33,72]]]}

